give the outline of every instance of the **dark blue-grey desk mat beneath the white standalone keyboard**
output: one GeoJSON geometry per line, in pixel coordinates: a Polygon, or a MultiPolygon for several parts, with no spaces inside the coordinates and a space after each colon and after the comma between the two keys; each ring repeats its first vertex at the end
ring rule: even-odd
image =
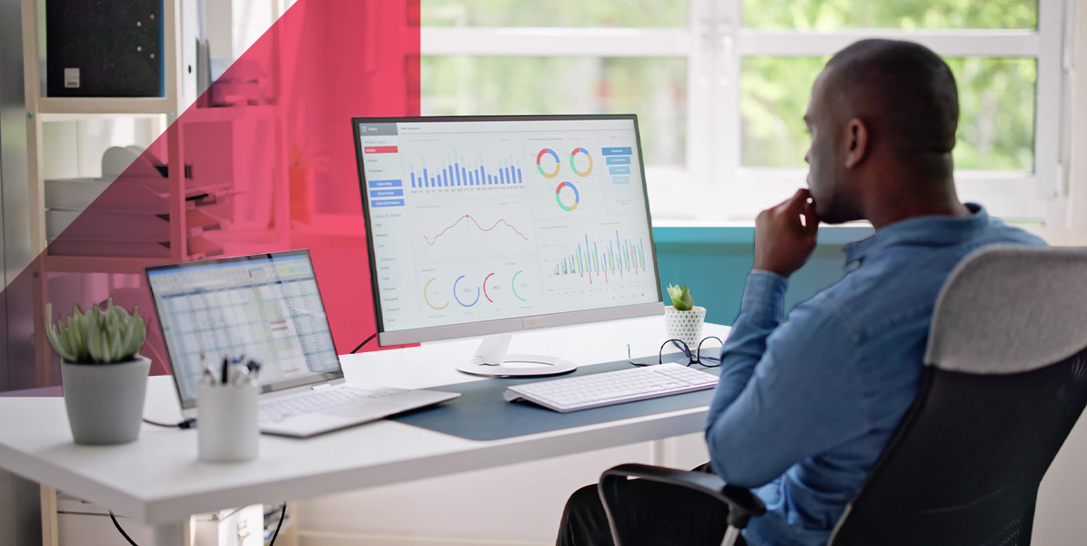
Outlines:
{"type": "MultiPolygon", "coordinates": [[[[636,360],[646,362],[650,359],[636,360]]],[[[657,356],[654,355],[651,360],[655,361],[657,356]]],[[[628,368],[630,368],[629,362],[620,360],[578,367],[573,373],[567,373],[559,377],[589,375],[628,368]]],[[[703,370],[714,375],[721,374],[719,368],[703,370]]],[[[461,396],[438,406],[401,413],[388,419],[462,438],[485,440],[697,408],[699,406],[709,406],[710,400],[713,399],[713,389],[707,389],[616,406],[605,406],[603,408],[559,413],[558,411],[551,411],[530,402],[508,402],[502,398],[502,392],[505,390],[505,387],[533,381],[545,381],[545,379],[498,377],[430,387],[432,390],[460,393],[461,396]]]]}

